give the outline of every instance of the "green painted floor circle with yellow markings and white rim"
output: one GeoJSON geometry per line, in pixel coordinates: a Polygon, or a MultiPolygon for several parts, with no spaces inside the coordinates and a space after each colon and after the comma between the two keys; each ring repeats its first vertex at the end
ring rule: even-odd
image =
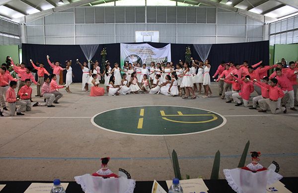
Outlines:
{"type": "Polygon", "coordinates": [[[184,106],[133,106],[101,112],[91,122],[105,130],[135,135],[182,135],[222,127],[224,116],[184,106]]]}

